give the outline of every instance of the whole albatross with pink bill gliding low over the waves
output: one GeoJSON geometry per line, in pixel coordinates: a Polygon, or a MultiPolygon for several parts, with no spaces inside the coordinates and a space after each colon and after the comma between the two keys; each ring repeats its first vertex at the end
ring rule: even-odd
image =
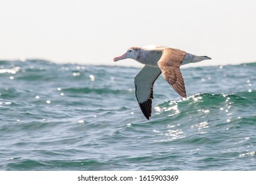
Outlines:
{"type": "Polygon", "coordinates": [[[149,120],[152,112],[153,85],[163,72],[163,77],[172,89],[186,98],[186,88],[180,66],[192,62],[211,59],[207,56],[196,56],[180,49],[166,46],[149,45],[146,47],[130,47],[114,62],[125,58],[132,58],[145,66],[134,78],[136,99],[145,118],[149,120]]]}

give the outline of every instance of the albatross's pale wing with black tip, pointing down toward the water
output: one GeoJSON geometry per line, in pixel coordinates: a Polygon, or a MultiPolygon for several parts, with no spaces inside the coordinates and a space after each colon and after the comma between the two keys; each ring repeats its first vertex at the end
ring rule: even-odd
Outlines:
{"type": "Polygon", "coordinates": [[[145,65],[134,78],[136,98],[147,120],[152,112],[153,85],[160,74],[159,68],[145,65]]]}

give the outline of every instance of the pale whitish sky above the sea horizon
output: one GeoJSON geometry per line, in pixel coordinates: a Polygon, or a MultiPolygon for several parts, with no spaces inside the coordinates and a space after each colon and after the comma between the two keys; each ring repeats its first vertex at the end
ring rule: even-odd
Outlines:
{"type": "Polygon", "coordinates": [[[141,66],[113,58],[151,44],[256,62],[256,1],[0,0],[0,60],[141,66]]]}

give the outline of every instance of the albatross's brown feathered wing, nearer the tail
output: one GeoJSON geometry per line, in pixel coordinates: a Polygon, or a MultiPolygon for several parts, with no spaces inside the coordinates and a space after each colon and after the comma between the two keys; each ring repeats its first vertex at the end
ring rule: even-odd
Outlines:
{"type": "Polygon", "coordinates": [[[186,52],[179,49],[164,49],[158,62],[165,80],[182,97],[187,97],[184,79],[180,72],[180,64],[182,64],[185,55],[186,52]]]}

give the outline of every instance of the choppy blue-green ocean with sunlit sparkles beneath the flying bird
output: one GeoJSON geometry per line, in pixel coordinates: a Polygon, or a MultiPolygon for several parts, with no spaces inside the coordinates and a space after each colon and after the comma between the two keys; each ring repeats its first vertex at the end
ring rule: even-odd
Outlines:
{"type": "Polygon", "coordinates": [[[150,120],[140,68],[0,61],[0,170],[256,170],[256,63],[160,76],[150,120]]]}

